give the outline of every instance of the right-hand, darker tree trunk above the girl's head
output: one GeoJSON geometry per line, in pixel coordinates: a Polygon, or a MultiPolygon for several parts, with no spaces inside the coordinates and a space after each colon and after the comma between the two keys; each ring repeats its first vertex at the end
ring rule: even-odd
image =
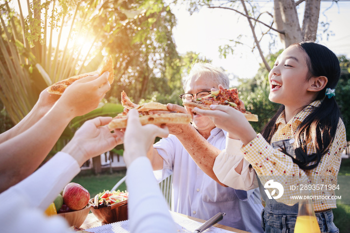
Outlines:
{"type": "Polygon", "coordinates": [[[302,34],[304,40],[316,40],[319,9],[321,0],[306,0],[304,18],[302,20],[302,34]]]}

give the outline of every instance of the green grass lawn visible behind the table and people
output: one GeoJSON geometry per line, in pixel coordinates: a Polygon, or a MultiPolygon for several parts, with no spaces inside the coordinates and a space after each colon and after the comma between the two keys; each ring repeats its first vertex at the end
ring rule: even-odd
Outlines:
{"type": "MultiPolygon", "coordinates": [[[[116,182],[118,182],[125,175],[124,171],[117,171],[112,174],[97,174],[97,175],[77,175],[72,182],[76,182],[85,187],[89,192],[91,198],[98,192],[103,190],[110,190],[116,182]]],[[[350,159],[342,159],[339,175],[350,176],[350,159]]],[[[350,179],[349,179],[350,180],[350,179]]],[[[349,185],[350,186],[350,183],[349,185]]],[[[119,186],[120,190],[127,190],[125,182],[119,186]]],[[[350,232],[350,203],[342,203],[337,200],[337,208],[333,209],[334,223],[339,228],[340,232],[350,232]]]]}

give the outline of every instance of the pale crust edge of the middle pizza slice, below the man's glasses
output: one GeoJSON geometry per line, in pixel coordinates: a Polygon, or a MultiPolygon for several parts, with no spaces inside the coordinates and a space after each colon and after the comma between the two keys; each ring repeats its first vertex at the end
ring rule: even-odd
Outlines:
{"type": "MultiPolygon", "coordinates": [[[[191,121],[191,115],[185,113],[162,113],[152,115],[142,115],[139,117],[142,125],[145,124],[188,124],[191,121]]],[[[108,124],[108,128],[126,128],[127,116],[115,116],[108,124]]]]}

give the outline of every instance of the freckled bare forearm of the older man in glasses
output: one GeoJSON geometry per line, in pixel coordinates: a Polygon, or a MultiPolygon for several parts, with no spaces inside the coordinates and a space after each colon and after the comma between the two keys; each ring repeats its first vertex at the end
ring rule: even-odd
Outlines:
{"type": "Polygon", "coordinates": [[[226,186],[217,179],[212,170],[215,158],[221,150],[211,145],[192,126],[183,130],[183,133],[176,135],[176,137],[205,174],[214,179],[220,185],[226,186]]]}

